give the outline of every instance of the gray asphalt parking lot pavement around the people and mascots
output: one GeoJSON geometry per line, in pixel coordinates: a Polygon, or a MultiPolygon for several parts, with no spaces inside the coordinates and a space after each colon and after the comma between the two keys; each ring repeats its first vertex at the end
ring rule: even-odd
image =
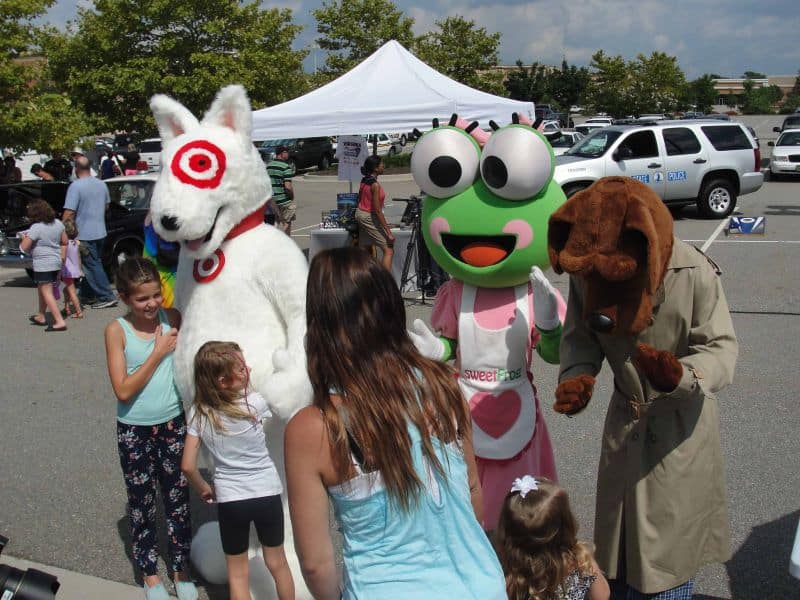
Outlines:
{"type": "MultiPolygon", "coordinates": [[[[417,188],[407,177],[386,176],[387,198],[417,188]]],[[[295,182],[298,221],[294,239],[306,249],[322,210],[335,207],[348,184],[314,178],[295,182]]],[[[389,221],[405,203],[388,202],[389,221]]],[[[720,395],[734,556],[703,569],[696,598],[798,598],[800,582],[788,575],[800,518],[800,180],[767,182],[740,199],[738,212],[765,216],[766,234],[726,237],[708,254],[721,266],[740,343],[733,385],[720,395]]],[[[718,221],[694,208],[676,214],[675,231],[698,246],[718,221]]],[[[566,295],[567,280],[548,275],[566,295]]],[[[0,272],[0,534],[6,553],[97,577],[135,581],[130,559],[125,489],[114,433],[114,398],[108,383],[103,328],[123,308],[88,310],[69,331],[44,334],[27,316],[35,289],[21,271],[0,272]]],[[[429,306],[409,305],[409,322],[427,319],[429,306]]],[[[580,536],[592,537],[594,486],[604,407],[612,382],[602,372],[588,409],[566,419],[550,408],[555,367],[541,361],[534,376],[555,446],[562,484],[570,491],[580,536]]],[[[193,505],[194,525],[215,517],[193,505]]],[[[1,561],[0,561],[1,562],[1,561]]],[[[219,589],[204,598],[223,598],[219,589]]]]}

